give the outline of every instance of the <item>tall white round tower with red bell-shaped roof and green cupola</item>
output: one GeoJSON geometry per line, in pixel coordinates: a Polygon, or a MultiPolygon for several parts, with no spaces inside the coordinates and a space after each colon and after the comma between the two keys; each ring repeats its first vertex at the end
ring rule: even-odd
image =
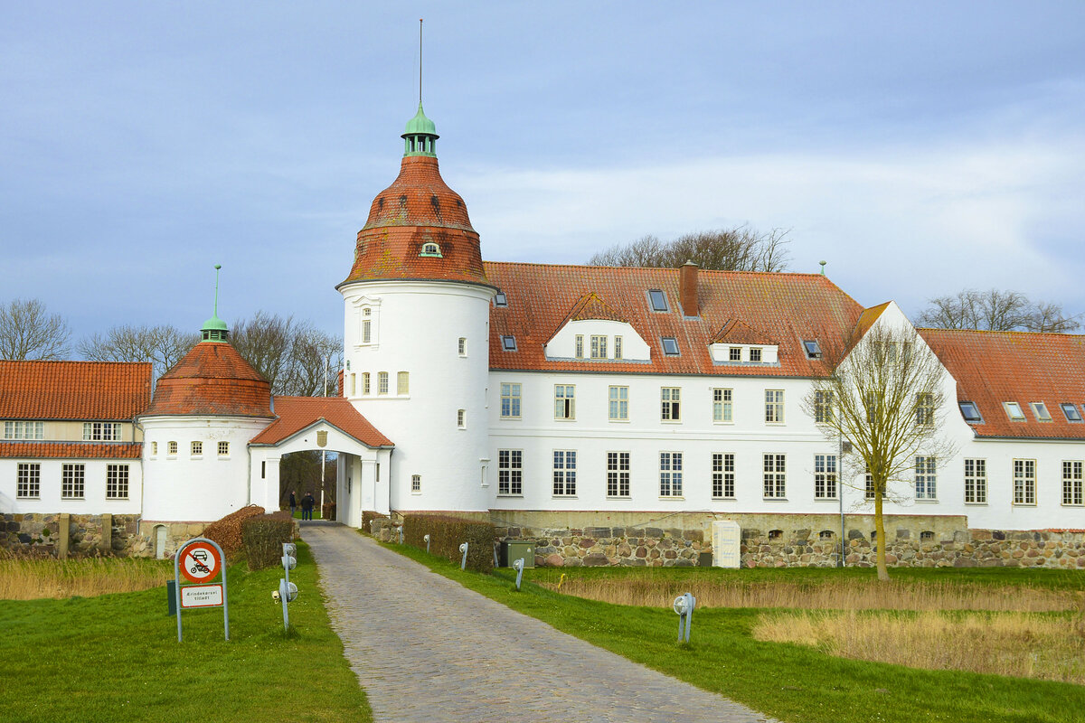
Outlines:
{"type": "MultiPolygon", "coordinates": [[[[485,511],[489,301],[478,234],[437,168],[422,111],[399,176],[373,199],[343,294],[343,393],[395,443],[393,511],[485,511]]],[[[385,477],[387,475],[387,477],[385,477]]],[[[370,480],[362,480],[370,481],[370,480]]]]}

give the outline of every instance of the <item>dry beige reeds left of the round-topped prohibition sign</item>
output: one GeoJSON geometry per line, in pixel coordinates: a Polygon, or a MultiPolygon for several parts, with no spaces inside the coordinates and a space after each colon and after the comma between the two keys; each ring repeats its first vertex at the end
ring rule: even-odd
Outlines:
{"type": "Polygon", "coordinates": [[[93,597],[159,588],[173,578],[166,565],[130,558],[0,558],[0,599],[93,597]]]}

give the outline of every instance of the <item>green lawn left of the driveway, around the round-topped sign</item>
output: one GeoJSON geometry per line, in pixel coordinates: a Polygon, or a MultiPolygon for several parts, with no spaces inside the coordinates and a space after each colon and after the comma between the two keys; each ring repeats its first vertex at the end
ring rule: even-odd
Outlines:
{"type": "Polygon", "coordinates": [[[280,577],[230,568],[230,642],[210,608],[183,614],[178,643],[164,589],[0,601],[0,721],[371,721],[305,544],[289,637],[271,601],[280,577]]]}

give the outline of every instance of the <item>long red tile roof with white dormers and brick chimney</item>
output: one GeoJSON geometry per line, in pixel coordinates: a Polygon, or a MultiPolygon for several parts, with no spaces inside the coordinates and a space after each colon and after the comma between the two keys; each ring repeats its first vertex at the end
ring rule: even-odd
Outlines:
{"type": "Polygon", "coordinates": [[[486,277],[503,291],[508,307],[490,309],[492,369],[746,376],[824,376],[821,360],[807,359],[803,339],[841,343],[863,308],[820,274],[700,271],[700,317],[687,319],[678,304],[678,269],[544,266],[487,262],[486,277]],[[671,311],[653,312],[648,289],[662,289],[671,311]],[[651,347],[643,362],[549,361],[542,346],[565,323],[586,294],[597,294],[628,320],[651,347]],[[780,347],[778,365],[715,364],[709,345],[730,320],[780,347]],[[501,336],[516,338],[503,351],[501,336]],[[678,340],[680,354],[666,357],[660,337],[678,340]]]}

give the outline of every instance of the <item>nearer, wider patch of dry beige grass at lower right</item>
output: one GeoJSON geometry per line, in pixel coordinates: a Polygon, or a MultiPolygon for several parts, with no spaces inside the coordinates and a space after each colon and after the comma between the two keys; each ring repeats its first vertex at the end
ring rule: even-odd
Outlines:
{"type": "Polygon", "coordinates": [[[1076,616],[800,611],[765,614],[753,634],[857,660],[1085,685],[1075,627],[1076,616]]]}

